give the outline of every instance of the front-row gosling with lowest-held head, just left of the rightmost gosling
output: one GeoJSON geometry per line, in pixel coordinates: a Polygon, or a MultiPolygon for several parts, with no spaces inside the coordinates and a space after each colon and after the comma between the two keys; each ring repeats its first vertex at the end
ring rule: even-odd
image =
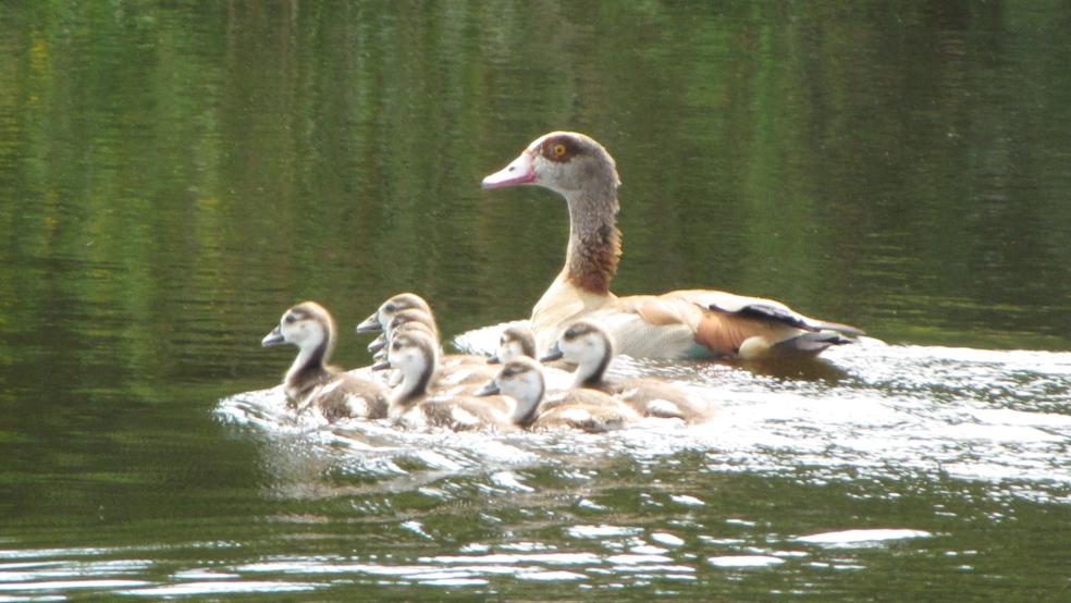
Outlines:
{"type": "Polygon", "coordinates": [[[595,390],[565,390],[544,396],[543,367],[527,356],[503,364],[498,374],[476,395],[498,393],[516,399],[521,407],[536,410],[527,423],[534,431],[579,429],[603,432],[621,429],[640,419],[628,405],[595,390]]]}

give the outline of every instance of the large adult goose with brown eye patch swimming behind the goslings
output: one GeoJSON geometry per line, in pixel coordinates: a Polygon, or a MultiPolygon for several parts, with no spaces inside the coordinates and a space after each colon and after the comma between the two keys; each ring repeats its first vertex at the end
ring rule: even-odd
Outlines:
{"type": "Polygon", "coordinates": [[[532,308],[540,349],[579,318],[596,318],[618,352],[653,358],[760,359],[815,355],[859,335],[854,327],[803,316],[772,299],[721,291],[674,291],[617,297],[610,281],[620,257],[614,159],[575,132],[540,136],[517,159],[483,179],[483,188],[538,185],[565,197],[569,244],[565,267],[532,308]]]}

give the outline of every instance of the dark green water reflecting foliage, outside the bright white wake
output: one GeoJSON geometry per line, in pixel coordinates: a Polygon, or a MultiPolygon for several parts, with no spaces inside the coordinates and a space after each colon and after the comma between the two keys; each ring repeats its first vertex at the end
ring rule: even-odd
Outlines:
{"type": "MultiPolygon", "coordinates": [[[[447,333],[526,316],[559,268],[564,208],[478,183],[552,128],[588,132],[618,161],[621,293],[717,286],[894,343],[1067,348],[1069,16],[1033,2],[9,3],[5,537],[278,550],[286,530],[264,518],[308,505],[264,493],[278,485],[261,475],[261,444],[217,424],[214,401],[278,380],[286,359],[257,342],[300,298],[343,327],[410,288],[447,333]]],[[[336,357],[368,360],[352,336],[336,357]]],[[[702,465],[680,462],[685,473],[702,465]]],[[[926,513],[945,504],[939,487],[860,509],[858,492],[729,481],[747,483],[718,491],[755,492],[697,521],[744,509],[792,533],[848,516],[943,532],[926,513]],[[811,496],[833,507],[818,512],[826,521],[798,513],[811,496]]],[[[670,520],[628,489],[602,502],[637,524],[670,520]]],[[[434,504],[418,503],[398,506],[434,504]]],[[[317,506],[332,529],[367,532],[348,526],[348,499],[317,506]]],[[[1008,513],[1041,527],[987,542],[955,524],[949,546],[1060,544],[1035,532],[1062,526],[1066,507],[1008,513]]],[[[977,507],[958,515],[987,527],[977,507]]],[[[422,554],[508,540],[467,512],[428,524],[459,527],[439,530],[445,544],[406,541],[422,554]]],[[[401,538],[382,530],[370,551],[401,538]]],[[[904,592],[898,562],[941,558],[925,546],[817,590],[904,592]],[[871,583],[875,573],[885,579],[871,583]]],[[[1022,586],[1005,574],[1056,583],[1054,555],[988,557],[983,586],[1022,586]]],[[[956,587],[976,575],[941,571],[956,587]]],[[[774,575],[758,591],[797,580],[774,575]]],[[[739,588],[721,592],[758,592],[739,588]]]]}

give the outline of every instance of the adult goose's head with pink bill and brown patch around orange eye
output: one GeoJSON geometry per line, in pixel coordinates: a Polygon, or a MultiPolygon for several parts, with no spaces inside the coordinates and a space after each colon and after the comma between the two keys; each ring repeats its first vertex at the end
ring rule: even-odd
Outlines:
{"type": "Polygon", "coordinates": [[[551,132],[532,140],[517,159],[483,179],[483,188],[533,184],[573,198],[590,188],[620,185],[614,158],[578,132],[551,132]]]}

